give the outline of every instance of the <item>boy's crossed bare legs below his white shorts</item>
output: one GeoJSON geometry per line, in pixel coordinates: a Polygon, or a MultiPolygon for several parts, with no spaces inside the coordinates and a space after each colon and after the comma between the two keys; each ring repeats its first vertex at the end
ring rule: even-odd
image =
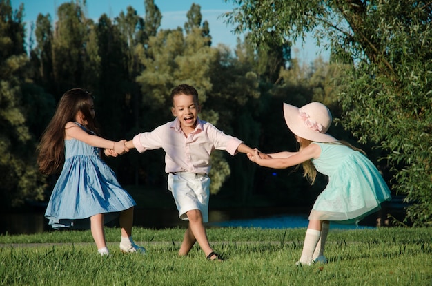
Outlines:
{"type": "MultiPolygon", "coordinates": [[[[202,222],[202,213],[198,209],[192,209],[186,213],[189,219],[189,227],[190,232],[192,236],[195,238],[195,240],[198,242],[201,249],[204,251],[204,254],[208,256],[211,252],[213,252],[213,249],[210,247],[210,243],[208,243],[207,233],[206,229],[204,228],[203,222],[202,222]]],[[[188,254],[189,250],[192,248],[193,245],[190,245],[190,243],[193,241],[190,238],[192,238],[188,234],[188,241],[185,241],[181,243],[180,255],[186,255],[188,254]],[[188,249],[189,248],[189,249],[188,249]],[[185,252],[186,251],[186,252],[185,252]]],[[[185,233],[186,237],[186,233],[185,233]]],[[[195,242],[194,242],[195,243],[195,242]]]]}

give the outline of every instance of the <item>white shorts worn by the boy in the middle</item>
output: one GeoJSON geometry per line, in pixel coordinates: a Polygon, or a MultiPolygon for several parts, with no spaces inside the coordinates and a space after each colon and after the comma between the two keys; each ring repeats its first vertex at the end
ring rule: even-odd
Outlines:
{"type": "Polygon", "coordinates": [[[188,219],[186,216],[188,211],[199,209],[202,222],[208,222],[208,200],[210,199],[208,175],[188,172],[169,173],[168,190],[173,193],[181,220],[188,219]]]}

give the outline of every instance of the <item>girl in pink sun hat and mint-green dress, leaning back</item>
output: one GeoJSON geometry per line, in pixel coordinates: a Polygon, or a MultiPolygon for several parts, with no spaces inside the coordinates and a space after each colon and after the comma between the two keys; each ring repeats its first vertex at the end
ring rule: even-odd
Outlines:
{"type": "Polygon", "coordinates": [[[327,133],[332,116],[327,106],[311,102],[302,108],[284,103],[285,122],[300,144],[299,151],[282,151],[248,158],[273,169],[302,164],[304,177],[315,181],[317,171],[328,176],[309,215],[302,256],[297,265],[327,263],[324,246],[330,221],[353,223],[380,209],[391,199],[389,187],[364,152],[327,133]]]}

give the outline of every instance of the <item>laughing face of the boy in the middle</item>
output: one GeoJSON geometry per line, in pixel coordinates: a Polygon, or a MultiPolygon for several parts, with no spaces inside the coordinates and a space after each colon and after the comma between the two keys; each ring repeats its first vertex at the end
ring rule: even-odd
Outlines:
{"type": "Polygon", "coordinates": [[[193,95],[175,95],[173,97],[173,108],[171,108],[171,111],[173,112],[173,115],[179,119],[182,129],[195,129],[199,106],[194,100],[193,95]]]}

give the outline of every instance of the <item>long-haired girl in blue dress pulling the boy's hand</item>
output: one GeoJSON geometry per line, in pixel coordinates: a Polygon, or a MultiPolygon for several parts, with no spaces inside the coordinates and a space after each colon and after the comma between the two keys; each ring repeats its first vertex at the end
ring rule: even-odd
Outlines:
{"type": "Polygon", "coordinates": [[[98,136],[95,108],[90,93],[68,90],[60,99],[52,120],[38,146],[39,170],[45,175],[60,173],[45,216],[54,229],[90,229],[99,254],[108,255],[104,223],[119,218],[120,249],[144,253],[132,240],[135,201],[121,188],[115,173],[100,158],[128,151],[124,142],[98,136]]]}

